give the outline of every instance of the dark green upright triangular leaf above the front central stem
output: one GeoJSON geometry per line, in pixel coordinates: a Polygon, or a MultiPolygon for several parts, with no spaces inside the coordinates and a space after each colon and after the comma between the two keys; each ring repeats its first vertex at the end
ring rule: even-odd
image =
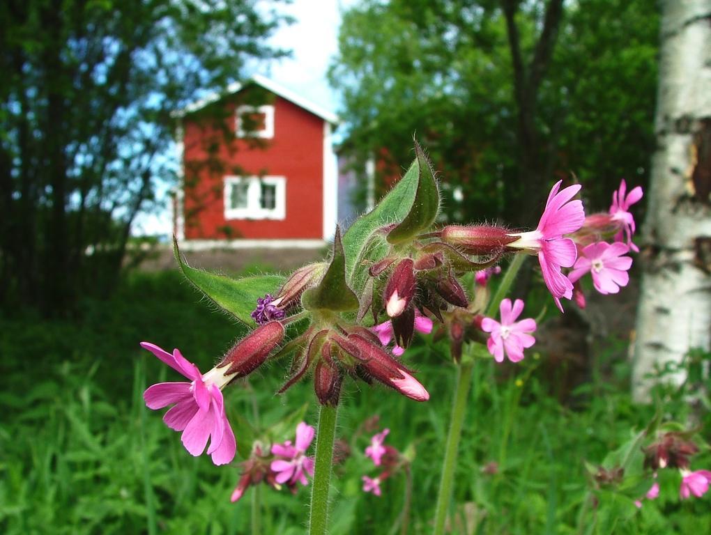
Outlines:
{"type": "Polygon", "coordinates": [[[358,297],[346,283],[346,255],[343,253],[340,227],[336,227],[331,264],[328,264],[324,278],[321,279],[319,286],[314,286],[304,292],[301,303],[308,310],[338,312],[356,310],[360,305],[358,297]]]}

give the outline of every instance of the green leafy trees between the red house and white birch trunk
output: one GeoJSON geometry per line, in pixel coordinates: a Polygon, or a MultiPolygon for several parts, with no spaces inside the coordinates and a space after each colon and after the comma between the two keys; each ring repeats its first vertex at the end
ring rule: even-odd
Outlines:
{"type": "Polygon", "coordinates": [[[451,218],[530,223],[570,171],[604,205],[621,176],[646,179],[657,28],[645,0],[365,0],[330,70],[346,146],[408,161],[417,132],[451,218]]]}

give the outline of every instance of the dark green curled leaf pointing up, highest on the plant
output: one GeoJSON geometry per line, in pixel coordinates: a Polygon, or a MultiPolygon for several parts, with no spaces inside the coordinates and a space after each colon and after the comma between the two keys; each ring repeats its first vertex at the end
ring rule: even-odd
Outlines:
{"type": "Polygon", "coordinates": [[[429,165],[427,156],[424,156],[424,151],[417,141],[415,141],[415,155],[419,168],[415,201],[412,202],[407,217],[387,234],[387,241],[391,244],[407,242],[417,234],[428,230],[432,227],[439,211],[439,190],[434,180],[432,166],[429,165]]]}

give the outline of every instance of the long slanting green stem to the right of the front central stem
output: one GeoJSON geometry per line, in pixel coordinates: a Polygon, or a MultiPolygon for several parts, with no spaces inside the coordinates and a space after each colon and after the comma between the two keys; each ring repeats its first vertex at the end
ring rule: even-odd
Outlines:
{"type": "Polygon", "coordinates": [[[454,391],[454,405],[451,409],[451,421],[447,434],[447,446],[444,450],[444,465],[442,467],[442,480],[439,483],[437,496],[437,509],[434,515],[434,535],[444,534],[444,522],[447,520],[449,501],[451,499],[452,485],[454,484],[454,468],[459,452],[459,439],[461,426],[464,424],[466,414],[466,399],[469,397],[471,375],[474,371],[474,362],[471,357],[464,359],[457,369],[456,390],[454,391]]]}

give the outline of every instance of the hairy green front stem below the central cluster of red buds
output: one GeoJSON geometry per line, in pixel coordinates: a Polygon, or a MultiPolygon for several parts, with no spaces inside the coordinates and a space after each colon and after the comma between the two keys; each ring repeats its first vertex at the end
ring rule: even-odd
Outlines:
{"type": "Polygon", "coordinates": [[[328,523],[328,488],[333,465],[333,438],[336,436],[336,407],[321,405],[316,436],[316,468],[311,486],[309,535],[325,535],[328,523]]]}

